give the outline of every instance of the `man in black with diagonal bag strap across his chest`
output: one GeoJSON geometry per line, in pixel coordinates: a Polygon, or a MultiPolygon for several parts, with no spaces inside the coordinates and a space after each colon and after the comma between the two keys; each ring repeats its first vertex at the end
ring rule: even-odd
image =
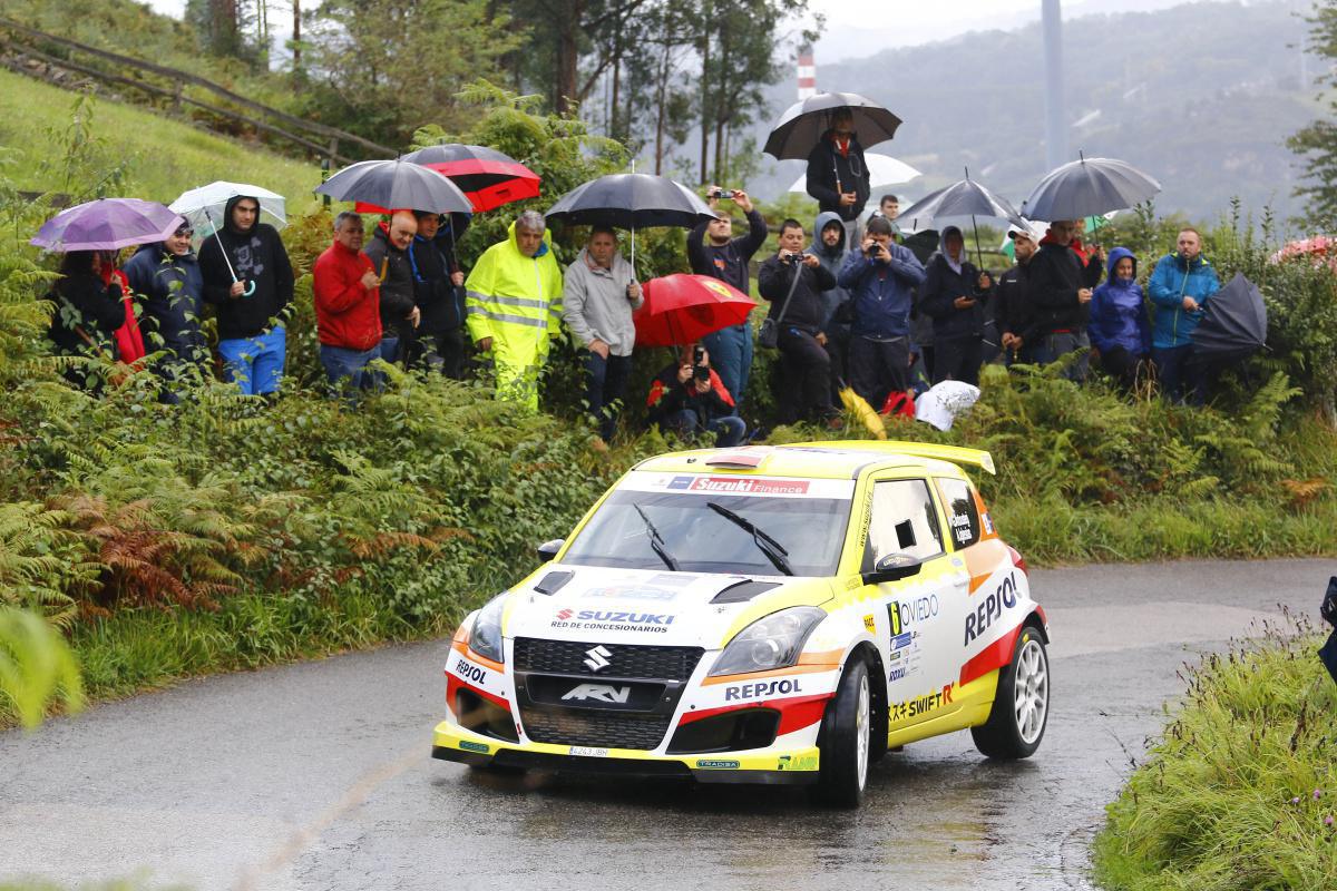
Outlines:
{"type": "Polygon", "coordinates": [[[770,301],[767,318],[779,327],[783,391],[775,394],[782,423],[830,421],[832,363],[822,331],[822,291],[836,277],[816,254],[804,252],[804,227],[796,219],[779,224],[779,251],[757,270],[757,290],[770,301]],[[796,278],[797,277],[797,278],[796,278]]]}

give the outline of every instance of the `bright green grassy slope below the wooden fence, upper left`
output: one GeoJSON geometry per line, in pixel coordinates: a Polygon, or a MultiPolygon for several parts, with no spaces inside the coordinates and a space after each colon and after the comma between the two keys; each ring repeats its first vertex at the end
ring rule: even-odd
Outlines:
{"type": "MultiPolygon", "coordinates": [[[[25,191],[66,191],[64,150],[78,95],[0,71],[0,159],[25,191]]],[[[126,171],[124,195],[170,202],[182,191],[215,179],[263,186],[287,196],[289,210],[314,203],[321,172],[303,163],[215,136],[150,111],[111,102],[92,103],[86,162],[126,171]]]]}

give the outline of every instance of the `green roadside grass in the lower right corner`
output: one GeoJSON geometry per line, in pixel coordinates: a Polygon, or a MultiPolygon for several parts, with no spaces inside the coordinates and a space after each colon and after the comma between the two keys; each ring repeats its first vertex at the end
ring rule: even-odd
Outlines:
{"type": "Polygon", "coordinates": [[[1103,887],[1337,888],[1337,684],[1321,640],[1273,628],[1190,672],[1183,709],[1108,807],[1103,887]]]}

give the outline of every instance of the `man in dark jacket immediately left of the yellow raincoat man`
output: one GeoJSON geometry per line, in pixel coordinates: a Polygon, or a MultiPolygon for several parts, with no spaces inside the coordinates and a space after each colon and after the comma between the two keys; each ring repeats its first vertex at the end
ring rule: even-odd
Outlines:
{"type": "Polygon", "coordinates": [[[409,243],[408,258],[420,319],[417,337],[409,342],[408,362],[459,381],[464,377],[464,273],[455,259],[455,239],[468,227],[469,218],[452,214],[443,223],[440,214],[413,211],[413,216],[418,231],[409,243]]]}

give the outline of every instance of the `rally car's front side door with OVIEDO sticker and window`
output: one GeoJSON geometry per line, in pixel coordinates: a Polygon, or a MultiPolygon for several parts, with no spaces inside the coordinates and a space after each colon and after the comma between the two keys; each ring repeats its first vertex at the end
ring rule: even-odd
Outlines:
{"type": "Polygon", "coordinates": [[[969,576],[947,550],[941,512],[924,477],[872,484],[862,572],[890,553],[920,561],[920,570],[878,585],[878,644],[885,647],[890,727],[948,713],[960,671],[956,629],[964,617],[969,576]]]}

